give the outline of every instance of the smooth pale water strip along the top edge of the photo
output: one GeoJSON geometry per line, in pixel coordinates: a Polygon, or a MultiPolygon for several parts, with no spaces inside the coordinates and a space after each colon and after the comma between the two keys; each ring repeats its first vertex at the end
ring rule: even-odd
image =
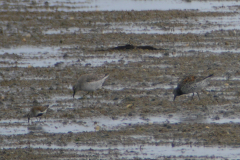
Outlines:
{"type": "MultiPolygon", "coordinates": [[[[89,1],[88,1],[89,2],[89,1]]],[[[99,0],[90,1],[86,5],[84,11],[106,11],[106,10],[184,10],[184,9],[196,9],[200,11],[214,11],[214,8],[222,7],[222,11],[228,11],[229,9],[223,8],[223,6],[238,5],[236,1],[192,1],[188,3],[182,0],[159,0],[159,1],[134,1],[134,0],[99,0]],[[93,6],[96,6],[94,8],[93,6]]]]}

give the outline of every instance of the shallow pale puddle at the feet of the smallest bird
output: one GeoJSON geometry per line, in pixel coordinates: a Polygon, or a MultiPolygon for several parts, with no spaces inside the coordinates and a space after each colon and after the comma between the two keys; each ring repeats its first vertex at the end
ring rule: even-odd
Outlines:
{"type": "MultiPolygon", "coordinates": [[[[165,117],[150,117],[150,119],[142,119],[140,117],[134,117],[134,118],[118,118],[116,120],[113,120],[109,117],[96,117],[96,118],[86,118],[86,119],[80,119],[76,120],[75,122],[64,122],[63,120],[53,120],[53,119],[42,119],[40,122],[36,123],[36,119],[33,118],[33,124],[34,125],[41,125],[42,130],[47,133],[68,133],[68,132],[93,132],[95,131],[96,125],[94,125],[95,122],[97,122],[97,125],[100,126],[101,130],[118,130],[121,127],[128,126],[129,124],[135,125],[135,124],[147,124],[150,121],[153,121],[155,123],[164,123],[166,122],[167,118],[165,117]]],[[[167,122],[170,123],[177,123],[179,122],[178,119],[171,118],[167,122]]],[[[6,125],[8,124],[8,127],[0,127],[0,134],[26,134],[27,133],[27,119],[24,120],[18,120],[18,119],[11,119],[11,120],[1,120],[0,125],[6,125]],[[16,126],[10,126],[9,124],[22,124],[25,125],[23,127],[16,127],[16,126]]],[[[31,123],[30,123],[31,124],[31,123]]]]}

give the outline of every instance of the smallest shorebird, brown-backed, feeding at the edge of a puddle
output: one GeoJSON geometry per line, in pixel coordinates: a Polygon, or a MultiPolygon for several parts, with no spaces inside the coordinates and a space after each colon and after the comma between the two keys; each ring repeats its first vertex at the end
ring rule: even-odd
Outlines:
{"type": "MultiPolygon", "coordinates": [[[[24,116],[24,117],[28,118],[28,123],[29,123],[30,118],[32,118],[32,117],[36,117],[37,118],[37,117],[42,116],[43,114],[45,114],[47,112],[48,107],[49,107],[49,105],[43,106],[43,107],[41,107],[41,106],[39,106],[39,107],[32,107],[31,110],[29,111],[29,113],[26,116],[24,116]]],[[[39,120],[40,119],[41,118],[39,117],[39,120]]]]}

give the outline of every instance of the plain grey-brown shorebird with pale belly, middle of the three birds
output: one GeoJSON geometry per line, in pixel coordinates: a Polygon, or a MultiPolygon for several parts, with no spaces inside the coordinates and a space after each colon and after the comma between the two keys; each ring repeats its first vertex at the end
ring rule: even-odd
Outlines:
{"type": "MultiPolygon", "coordinates": [[[[82,75],[78,82],[73,86],[73,98],[77,91],[93,92],[102,87],[103,82],[108,78],[109,74],[85,74],[82,75]]],[[[85,96],[85,95],[84,95],[85,96]]],[[[84,97],[83,96],[83,97],[84,97]]]]}

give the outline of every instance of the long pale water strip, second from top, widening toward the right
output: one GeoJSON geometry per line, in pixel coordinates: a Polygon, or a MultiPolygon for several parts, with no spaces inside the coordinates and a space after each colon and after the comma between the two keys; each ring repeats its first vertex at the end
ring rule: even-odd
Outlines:
{"type": "MultiPolygon", "coordinates": [[[[155,1],[156,2],[156,1],[155,1]]],[[[192,2],[194,3],[194,2],[192,2]]],[[[203,2],[201,2],[203,3],[203,2]]],[[[221,17],[199,17],[196,19],[174,19],[170,20],[173,24],[183,23],[187,24],[187,27],[158,27],[155,24],[157,21],[150,22],[121,22],[121,23],[110,23],[106,27],[105,23],[97,23],[99,28],[78,28],[70,27],[58,28],[58,29],[49,29],[43,32],[43,34],[73,34],[73,33],[126,33],[126,34],[205,34],[207,32],[211,33],[212,31],[222,31],[222,30],[239,30],[239,15],[233,16],[221,16],[221,17]],[[191,26],[191,27],[188,27],[191,26]],[[167,28],[167,29],[166,29],[167,28]]],[[[166,21],[169,23],[169,20],[166,21]]],[[[174,25],[173,25],[174,26],[174,25]]],[[[237,38],[233,36],[231,38],[237,38]]]]}

